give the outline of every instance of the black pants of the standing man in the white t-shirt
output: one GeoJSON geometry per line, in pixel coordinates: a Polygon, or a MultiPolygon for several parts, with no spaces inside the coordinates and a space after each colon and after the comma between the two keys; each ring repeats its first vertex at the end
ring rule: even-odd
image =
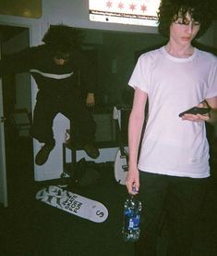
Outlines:
{"type": "Polygon", "coordinates": [[[139,198],[143,211],[135,255],[157,255],[163,216],[169,233],[167,255],[190,255],[207,180],[140,172],[139,198]]]}

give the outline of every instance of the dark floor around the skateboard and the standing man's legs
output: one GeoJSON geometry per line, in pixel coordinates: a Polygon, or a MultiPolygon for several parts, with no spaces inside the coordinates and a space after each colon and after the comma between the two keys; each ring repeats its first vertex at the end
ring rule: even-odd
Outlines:
{"type": "MultiPolygon", "coordinates": [[[[121,237],[125,186],[116,184],[113,164],[98,164],[97,179],[74,192],[102,202],[107,220],[95,224],[35,199],[42,186],[59,181],[34,182],[30,141],[19,142],[11,154],[8,172],[9,206],[0,209],[0,255],[133,256],[133,245],[121,237]],[[13,168],[12,168],[13,167],[13,168]]],[[[217,255],[217,173],[212,176],[199,220],[192,256],[217,255]]],[[[158,256],[164,256],[166,231],[159,237],[158,256]]],[[[185,256],[185,255],[183,255],[185,256]]]]}

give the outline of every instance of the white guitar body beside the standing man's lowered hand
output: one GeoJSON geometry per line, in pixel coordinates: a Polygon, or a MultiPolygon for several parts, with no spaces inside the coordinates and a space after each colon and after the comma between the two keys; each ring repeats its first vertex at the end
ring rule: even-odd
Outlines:
{"type": "Polygon", "coordinates": [[[115,180],[120,185],[126,185],[128,173],[128,152],[126,149],[118,149],[115,156],[115,180]]]}

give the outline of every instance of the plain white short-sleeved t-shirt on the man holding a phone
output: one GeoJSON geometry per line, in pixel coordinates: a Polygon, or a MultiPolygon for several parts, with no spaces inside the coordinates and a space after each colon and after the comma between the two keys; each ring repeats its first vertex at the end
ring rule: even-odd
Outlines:
{"type": "Polygon", "coordinates": [[[149,97],[139,170],[210,176],[205,122],[183,121],[178,115],[217,96],[217,58],[197,48],[189,58],[175,58],[163,46],[140,56],[128,84],[149,97]]]}

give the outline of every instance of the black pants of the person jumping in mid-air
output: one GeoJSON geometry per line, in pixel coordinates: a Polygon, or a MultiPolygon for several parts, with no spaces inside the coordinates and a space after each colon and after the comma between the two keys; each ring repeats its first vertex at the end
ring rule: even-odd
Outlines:
{"type": "Polygon", "coordinates": [[[83,146],[94,141],[96,124],[79,96],[46,96],[41,92],[33,112],[31,133],[41,143],[54,144],[54,117],[61,113],[72,122],[73,141],[83,146]]]}

